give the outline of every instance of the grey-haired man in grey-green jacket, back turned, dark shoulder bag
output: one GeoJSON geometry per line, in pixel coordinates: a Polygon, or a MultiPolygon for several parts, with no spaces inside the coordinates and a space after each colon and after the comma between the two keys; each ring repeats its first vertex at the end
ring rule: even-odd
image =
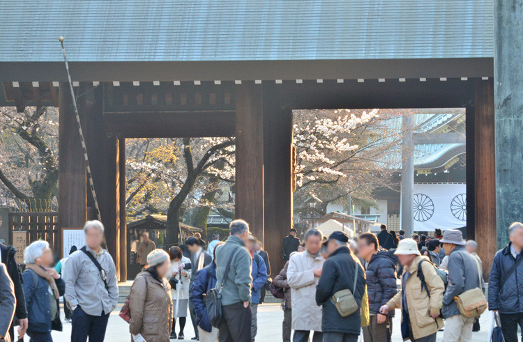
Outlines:
{"type": "Polygon", "coordinates": [[[245,249],[249,237],[249,224],[236,219],[230,224],[231,235],[214,251],[216,260],[216,288],[222,286],[222,321],[218,340],[220,342],[251,341],[250,322],[250,275],[252,259],[245,249]],[[229,273],[224,280],[229,258],[229,273]],[[223,284],[223,285],[222,285],[223,284]]]}

